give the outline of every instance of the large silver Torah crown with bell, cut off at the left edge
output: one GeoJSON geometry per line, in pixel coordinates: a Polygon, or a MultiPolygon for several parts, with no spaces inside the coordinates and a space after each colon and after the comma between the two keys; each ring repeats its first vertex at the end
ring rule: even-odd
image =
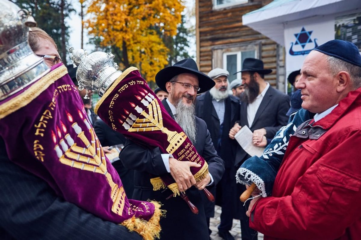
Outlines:
{"type": "MultiPolygon", "coordinates": [[[[36,26],[31,11],[0,0],[0,101],[45,75],[48,66],[32,52],[27,37],[36,26]]],[[[48,70],[49,71],[49,70],[48,70]]]]}

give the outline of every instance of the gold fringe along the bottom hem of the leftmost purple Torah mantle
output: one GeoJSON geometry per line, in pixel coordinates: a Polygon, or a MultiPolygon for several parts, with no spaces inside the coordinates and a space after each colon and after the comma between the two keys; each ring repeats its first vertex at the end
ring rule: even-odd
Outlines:
{"type": "Polygon", "coordinates": [[[145,221],[135,216],[123,221],[121,225],[129,229],[129,231],[138,232],[144,240],[154,240],[160,238],[161,226],[159,224],[160,218],[165,217],[166,210],[160,209],[161,204],[157,201],[150,201],[154,204],[153,216],[145,221]]]}

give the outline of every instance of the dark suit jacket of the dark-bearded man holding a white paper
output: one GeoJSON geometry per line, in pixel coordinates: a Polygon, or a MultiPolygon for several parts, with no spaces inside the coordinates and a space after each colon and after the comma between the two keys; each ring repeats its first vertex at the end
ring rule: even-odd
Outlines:
{"type": "MultiPolygon", "coordinates": [[[[248,126],[246,102],[241,103],[240,125],[248,126]]],[[[277,131],[287,125],[287,111],[290,109],[290,97],[273,87],[269,87],[256,112],[255,119],[249,129],[254,130],[265,128],[266,138],[273,138],[277,131]]],[[[242,147],[238,146],[235,166],[239,167],[248,157],[242,147]]]]}

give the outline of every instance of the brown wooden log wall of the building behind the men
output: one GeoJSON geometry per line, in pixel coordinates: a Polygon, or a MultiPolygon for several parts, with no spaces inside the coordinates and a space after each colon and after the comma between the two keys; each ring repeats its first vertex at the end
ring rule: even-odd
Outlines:
{"type": "Polygon", "coordinates": [[[215,54],[215,49],[257,45],[258,58],[264,62],[265,68],[272,69],[271,74],[265,75],[265,79],[284,92],[283,47],[242,24],[243,14],[271,1],[249,0],[247,4],[213,9],[213,0],[196,0],[197,64],[200,71],[208,73],[215,67],[222,67],[222,60],[219,59],[222,55],[215,54]]]}

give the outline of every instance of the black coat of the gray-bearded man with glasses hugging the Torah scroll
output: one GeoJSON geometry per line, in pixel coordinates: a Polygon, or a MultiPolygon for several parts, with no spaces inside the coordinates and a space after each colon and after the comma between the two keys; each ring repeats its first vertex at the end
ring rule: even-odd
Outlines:
{"type": "MultiPolygon", "coordinates": [[[[166,101],[163,100],[162,103],[173,117],[166,101]]],[[[207,161],[208,170],[212,174],[214,183],[217,184],[224,172],[223,161],[214,150],[205,122],[196,117],[196,124],[198,130],[195,147],[207,161]]],[[[158,147],[147,149],[127,139],[119,157],[126,168],[135,169],[133,198],[138,200],[155,199],[163,204],[162,209],[167,210],[167,213],[166,218],[161,219],[161,239],[209,239],[204,205],[199,190],[191,187],[186,191],[190,201],[199,210],[197,215],[191,212],[188,205],[179,196],[166,200],[166,197],[172,194],[170,190],[153,191],[150,183],[151,174],[159,176],[167,173],[161,154],[163,152],[160,152],[158,147]],[[182,231],[175,233],[175,228],[182,229],[182,231]]]]}

